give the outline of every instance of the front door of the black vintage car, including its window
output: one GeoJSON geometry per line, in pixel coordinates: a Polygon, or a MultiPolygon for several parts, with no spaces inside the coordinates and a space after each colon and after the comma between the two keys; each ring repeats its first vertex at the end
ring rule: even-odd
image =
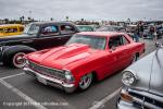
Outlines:
{"type": "Polygon", "coordinates": [[[38,38],[35,40],[38,49],[61,46],[61,35],[58,25],[45,25],[40,28],[38,38]]]}

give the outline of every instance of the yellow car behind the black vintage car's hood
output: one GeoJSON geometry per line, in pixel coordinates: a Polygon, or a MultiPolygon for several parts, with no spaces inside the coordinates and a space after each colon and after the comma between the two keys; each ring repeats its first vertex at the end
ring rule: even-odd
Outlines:
{"type": "Polygon", "coordinates": [[[23,31],[24,31],[24,25],[21,24],[0,25],[0,37],[21,35],[23,31]]]}

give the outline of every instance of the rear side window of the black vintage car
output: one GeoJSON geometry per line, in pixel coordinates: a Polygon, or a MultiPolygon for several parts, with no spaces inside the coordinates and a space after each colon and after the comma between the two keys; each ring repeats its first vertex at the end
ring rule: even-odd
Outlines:
{"type": "Polygon", "coordinates": [[[61,34],[73,34],[75,33],[75,28],[71,25],[61,25],[60,26],[61,34]]]}

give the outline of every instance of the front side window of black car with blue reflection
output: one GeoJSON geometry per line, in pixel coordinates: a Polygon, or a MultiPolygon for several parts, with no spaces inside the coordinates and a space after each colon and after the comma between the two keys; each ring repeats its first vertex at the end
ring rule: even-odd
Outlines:
{"type": "Polygon", "coordinates": [[[41,36],[59,35],[59,27],[55,25],[45,26],[40,32],[41,36]]]}

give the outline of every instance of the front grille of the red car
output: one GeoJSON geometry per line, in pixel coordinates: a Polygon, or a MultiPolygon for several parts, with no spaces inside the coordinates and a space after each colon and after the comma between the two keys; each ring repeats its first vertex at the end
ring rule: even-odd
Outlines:
{"type": "Polygon", "coordinates": [[[33,69],[34,71],[39,72],[41,74],[51,75],[51,76],[64,80],[64,72],[61,70],[55,70],[55,69],[47,68],[43,65],[39,65],[39,64],[34,63],[32,61],[29,61],[28,66],[30,69],[33,69]]]}

